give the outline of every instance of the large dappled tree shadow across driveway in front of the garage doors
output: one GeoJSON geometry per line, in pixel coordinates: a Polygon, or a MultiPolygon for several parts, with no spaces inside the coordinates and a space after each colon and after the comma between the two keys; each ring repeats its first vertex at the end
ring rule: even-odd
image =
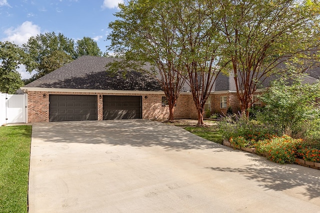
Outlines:
{"type": "Polygon", "coordinates": [[[229,150],[179,127],[149,120],[52,122],[39,123],[36,127],[36,137],[44,142],[160,146],[167,151],[212,148],[216,148],[216,152],[229,150]]]}

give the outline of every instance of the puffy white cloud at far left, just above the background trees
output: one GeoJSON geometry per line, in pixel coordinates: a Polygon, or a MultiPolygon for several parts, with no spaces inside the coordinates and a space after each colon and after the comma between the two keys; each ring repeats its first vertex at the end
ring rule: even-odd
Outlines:
{"type": "Polygon", "coordinates": [[[2,38],[3,41],[10,41],[19,46],[27,42],[29,37],[36,36],[40,33],[40,27],[36,24],[32,24],[30,21],[24,21],[16,28],[10,27],[4,30],[7,37],[2,38]]]}

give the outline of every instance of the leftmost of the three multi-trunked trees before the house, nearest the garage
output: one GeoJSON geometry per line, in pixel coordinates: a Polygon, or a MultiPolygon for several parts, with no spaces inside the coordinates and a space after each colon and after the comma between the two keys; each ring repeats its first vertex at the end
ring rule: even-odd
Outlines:
{"type": "Polygon", "coordinates": [[[169,122],[186,75],[182,47],[178,43],[175,8],[178,0],[130,0],[119,4],[117,20],[109,23],[108,49],[122,60],[108,64],[108,70],[128,68],[155,77],[169,106],[169,122]],[[152,69],[152,67],[155,67],[152,69]]]}

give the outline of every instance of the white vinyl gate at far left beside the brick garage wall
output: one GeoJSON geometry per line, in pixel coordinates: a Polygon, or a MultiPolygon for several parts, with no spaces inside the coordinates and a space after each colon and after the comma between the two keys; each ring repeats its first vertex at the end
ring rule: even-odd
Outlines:
{"type": "Polygon", "coordinates": [[[26,123],[26,94],[0,93],[0,125],[26,123]]]}

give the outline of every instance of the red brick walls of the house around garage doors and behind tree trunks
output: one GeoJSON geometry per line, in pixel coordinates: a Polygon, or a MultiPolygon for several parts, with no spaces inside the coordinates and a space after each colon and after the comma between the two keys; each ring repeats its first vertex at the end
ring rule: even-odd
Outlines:
{"type": "MultiPolygon", "coordinates": [[[[169,107],[161,106],[164,94],[150,93],[98,93],[98,92],[41,92],[28,91],[28,122],[49,122],[49,95],[96,95],[97,119],[103,119],[103,95],[132,95],[142,96],[142,118],[151,120],[167,119],[169,107]]],[[[211,112],[226,113],[227,108],[220,108],[220,96],[227,96],[227,107],[231,106],[233,112],[239,109],[239,102],[235,93],[212,94],[211,112]]],[[[191,94],[180,94],[174,109],[176,119],[197,119],[197,112],[191,94]]]]}

